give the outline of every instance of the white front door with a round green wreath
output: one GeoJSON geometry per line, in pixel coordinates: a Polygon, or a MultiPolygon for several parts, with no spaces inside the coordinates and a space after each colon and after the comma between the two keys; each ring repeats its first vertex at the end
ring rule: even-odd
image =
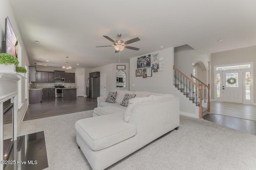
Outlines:
{"type": "Polygon", "coordinates": [[[222,71],[222,101],[243,103],[243,71],[222,71]]]}

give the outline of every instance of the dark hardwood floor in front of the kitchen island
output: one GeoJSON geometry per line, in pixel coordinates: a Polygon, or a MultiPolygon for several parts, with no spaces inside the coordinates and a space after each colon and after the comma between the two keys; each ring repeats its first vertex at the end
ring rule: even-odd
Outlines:
{"type": "Polygon", "coordinates": [[[89,111],[95,107],[97,107],[97,99],[87,97],[77,97],[77,100],[69,101],[62,101],[61,98],[43,99],[42,103],[28,105],[23,121],[89,111]]]}

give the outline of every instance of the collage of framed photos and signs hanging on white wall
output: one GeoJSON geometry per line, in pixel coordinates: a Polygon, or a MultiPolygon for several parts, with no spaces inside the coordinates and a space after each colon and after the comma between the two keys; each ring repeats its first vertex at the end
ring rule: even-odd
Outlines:
{"type": "Polygon", "coordinates": [[[137,69],[135,71],[136,77],[152,77],[153,72],[158,72],[159,69],[159,51],[143,55],[137,58],[137,69]],[[151,67],[151,56],[152,56],[152,67],[151,67]]]}

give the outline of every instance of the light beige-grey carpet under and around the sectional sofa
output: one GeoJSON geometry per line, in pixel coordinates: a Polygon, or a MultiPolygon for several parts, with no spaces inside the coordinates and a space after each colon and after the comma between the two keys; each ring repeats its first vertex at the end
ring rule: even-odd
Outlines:
{"type": "MultiPolygon", "coordinates": [[[[24,121],[19,136],[44,130],[47,170],[89,170],[76,144],[74,124],[92,111],[24,121]]],[[[118,153],[116,153],[118,154],[118,153]]],[[[100,161],[100,160],[99,160],[100,161]]],[[[255,170],[256,136],[180,116],[180,128],[110,166],[111,170],[255,170]]]]}

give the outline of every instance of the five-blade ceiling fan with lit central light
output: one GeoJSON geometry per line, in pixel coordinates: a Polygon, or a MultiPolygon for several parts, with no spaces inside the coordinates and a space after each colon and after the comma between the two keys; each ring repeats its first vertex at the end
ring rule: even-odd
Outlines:
{"type": "Polygon", "coordinates": [[[116,35],[118,36],[118,40],[116,40],[116,41],[112,40],[108,36],[103,36],[106,39],[110,40],[112,43],[114,43],[114,45],[97,46],[97,47],[114,47],[115,50],[116,50],[115,53],[118,53],[119,51],[122,51],[124,48],[133,49],[133,50],[136,50],[136,51],[139,50],[139,48],[136,48],[136,47],[126,46],[129,43],[134,43],[134,42],[140,41],[140,39],[138,37],[124,42],[123,40],[120,40],[120,37],[122,36],[122,34],[116,34],[116,35]]]}

